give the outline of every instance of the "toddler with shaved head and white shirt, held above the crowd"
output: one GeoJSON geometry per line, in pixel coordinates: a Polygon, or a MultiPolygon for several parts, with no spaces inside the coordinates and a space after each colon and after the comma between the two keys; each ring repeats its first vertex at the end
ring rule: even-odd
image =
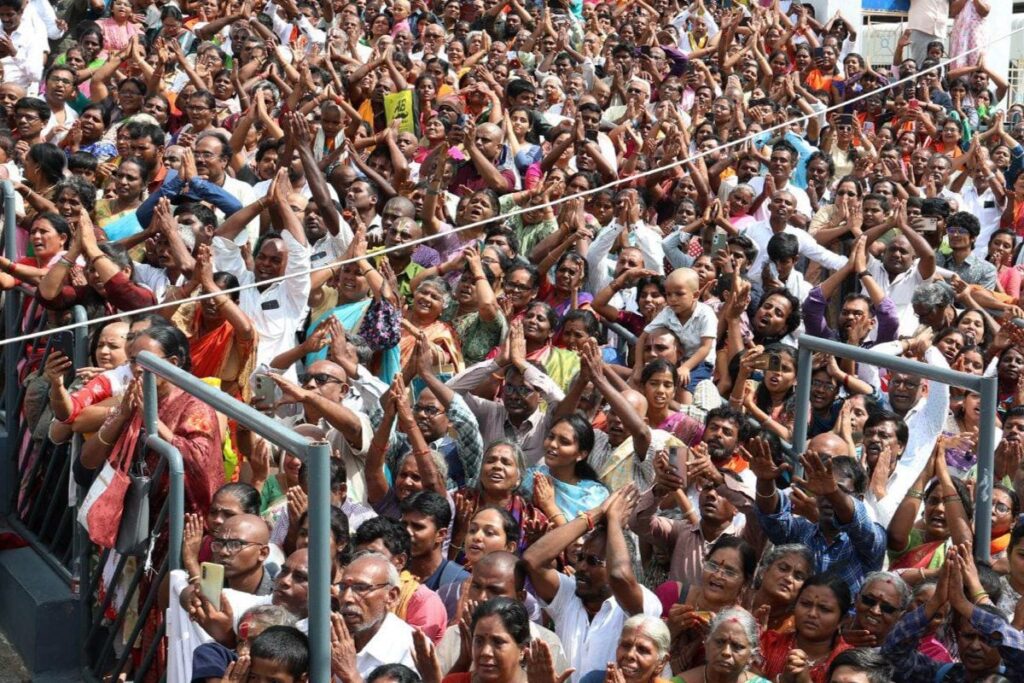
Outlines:
{"type": "MultiPolygon", "coordinates": [[[[718,316],[708,304],[698,301],[699,279],[692,268],[676,268],[665,281],[666,307],[651,321],[645,332],[668,328],[682,346],[679,383],[692,394],[700,380],[711,378],[715,370],[715,340],[718,316]]],[[[684,395],[684,402],[686,396],[684,395]]]]}

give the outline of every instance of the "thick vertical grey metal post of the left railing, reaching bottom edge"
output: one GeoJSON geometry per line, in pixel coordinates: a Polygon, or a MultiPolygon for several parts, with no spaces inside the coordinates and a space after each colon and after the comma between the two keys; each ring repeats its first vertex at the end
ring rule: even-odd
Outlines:
{"type": "Polygon", "coordinates": [[[305,449],[309,468],[309,680],[331,680],[331,446],[305,449]]]}

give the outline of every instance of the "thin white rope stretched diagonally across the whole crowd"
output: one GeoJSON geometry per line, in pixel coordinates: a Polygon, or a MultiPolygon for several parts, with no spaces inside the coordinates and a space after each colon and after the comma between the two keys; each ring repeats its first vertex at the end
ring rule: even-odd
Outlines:
{"type": "Polygon", "coordinates": [[[380,251],[376,251],[372,255],[359,256],[357,258],[351,258],[351,259],[343,259],[343,260],[340,260],[340,261],[334,261],[333,263],[326,263],[324,265],[318,265],[316,267],[307,268],[306,270],[301,270],[299,272],[295,272],[295,273],[291,273],[291,274],[285,274],[285,275],[280,275],[278,278],[270,278],[268,280],[264,280],[264,281],[259,282],[259,283],[249,283],[247,285],[240,285],[238,287],[232,287],[232,288],[229,288],[229,289],[223,289],[223,290],[221,290],[219,292],[206,292],[206,293],[203,293],[203,294],[196,294],[196,295],[193,295],[191,297],[188,297],[187,299],[181,299],[179,301],[174,301],[174,302],[171,302],[171,303],[155,304],[153,306],[145,306],[143,308],[136,308],[135,310],[126,311],[124,313],[115,313],[113,315],[104,315],[102,317],[97,317],[97,318],[94,318],[94,319],[91,319],[91,321],[87,321],[85,323],[72,323],[72,324],[65,325],[65,326],[61,326],[61,327],[58,327],[58,328],[50,328],[50,329],[47,329],[47,330],[44,330],[44,331],[40,331],[40,332],[32,332],[32,333],[29,333],[29,334],[24,334],[24,335],[22,335],[19,337],[11,337],[9,339],[2,339],[2,340],[0,340],[0,347],[7,346],[9,344],[16,344],[16,343],[20,343],[20,342],[24,342],[24,341],[29,341],[29,340],[32,340],[32,339],[38,339],[40,337],[46,337],[48,335],[56,334],[56,333],[59,333],[59,332],[69,332],[69,331],[76,330],[77,328],[80,328],[80,327],[83,327],[83,326],[99,325],[99,324],[102,324],[102,323],[111,323],[111,322],[114,322],[114,321],[123,321],[125,318],[125,316],[127,316],[127,315],[135,315],[135,314],[138,314],[138,313],[150,313],[150,312],[154,312],[154,311],[160,310],[162,308],[166,308],[169,305],[181,305],[181,304],[185,304],[185,303],[193,303],[193,302],[197,302],[197,301],[203,301],[204,299],[210,299],[210,298],[213,298],[215,296],[219,296],[221,294],[233,294],[236,292],[241,292],[242,290],[251,289],[253,287],[268,287],[270,285],[273,285],[275,283],[280,283],[280,282],[282,282],[284,280],[288,280],[288,279],[291,279],[291,278],[303,278],[303,276],[309,275],[309,274],[311,274],[313,272],[318,272],[321,270],[326,270],[328,268],[337,268],[339,266],[346,265],[348,263],[355,263],[357,261],[361,261],[361,260],[364,260],[366,258],[376,258],[378,256],[385,256],[385,255],[387,255],[387,254],[389,254],[389,253],[391,253],[393,251],[397,251],[399,249],[408,249],[409,247],[412,247],[412,246],[416,246],[416,245],[420,245],[420,244],[425,244],[425,243],[428,243],[428,242],[430,242],[432,240],[435,240],[435,239],[437,239],[439,237],[446,237],[446,236],[450,236],[450,234],[456,234],[458,232],[462,232],[463,230],[470,230],[470,229],[473,229],[473,228],[481,227],[483,225],[487,225],[489,223],[495,223],[495,222],[498,222],[498,221],[503,221],[503,220],[505,220],[509,216],[517,216],[519,214],[526,213],[527,211],[537,211],[538,209],[544,209],[544,208],[548,208],[548,207],[554,207],[554,206],[557,206],[559,204],[563,204],[565,202],[568,202],[568,201],[571,201],[571,200],[574,200],[574,199],[578,199],[578,198],[588,197],[590,195],[596,195],[597,193],[604,191],[605,189],[610,189],[611,187],[616,187],[616,186],[618,186],[621,184],[624,184],[624,183],[627,183],[627,182],[632,182],[632,181],[637,180],[639,178],[645,178],[645,177],[647,177],[649,175],[654,175],[656,173],[662,173],[663,171],[667,171],[669,169],[678,168],[679,166],[683,166],[683,165],[685,165],[687,163],[690,163],[690,162],[693,162],[693,161],[695,161],[697,159],[703,159],[705,157],[707,157],[707,156],[709,156],[711,154],[715,154],[715,153],[721,152],[723,150],[727,150],[729,147],[741,146],[741,145],[745,144],[746,142],[754,140],[754,138],[760,137],[760,136],[764,135],[765,133],[771,133],[771,132],[774,132],[774,131],[777,131],[777,130],[782,130],[784,128],[788,128],[795,122],[809,121],[809,120],[817,118],[819,116],[824,116],[824,115],[829,114],[831,112],[837,112],[839,110],[846,109],[849,104],[851,104],[853,102],[860,101],[862,99],[866,99],[866,98],[868,98],[868,97],[877,94],[878,92],[881,92],[881,91],[884,91],[884,90],[890,90],[892,88],[896,88],[896,87],[898,87],[900,85],[903,85],[905,83],[908,83],[908,82],[911,82],[911,81],[915,81],[918,78],[920,78],[921,76],[923,76],[925,74],[928,74],[929,72],[941,70],[941,69],[947,67],[951,61],[953,61],[953,59],[956,59],[958,57],[963,57],[963,56],[971,54],[973,52],[977,52],[979,50],[982,50],[985,47],[987,47],[989,44],[997,43],[1000,40],[1006,40],[1008,38],[1011,38],[1012,36],[1020,33],[1022,31],[1024,31],[1024,26],[1021,26],[1018,29],[1014,29],[1010,33],[1007,33],[1007,34],[1000,36],[999,38],[996,38],[993,41],[985,43],[984,45],[978,45],[976,47],[971,48],[970,50],[966,50],[966,51],[964,51],[964,52],[962,52],[962,53],[959,53],[959,54],[957,54],[957,55],[955,55],[953,57],[950,57],[949,59],[946,59],[945,61],[941,61],[941,62],[939,62],[937,65],[933,65],[933,66],[931,66],[931,67],[929,67],[927,69],[922,69],[921,71],[918,71],[914,74],[911,74],[910,76],[901,78],[901,79],[899,79],[897,81],[893,81],[892,83],[890,83],[888,85],[885,85],[885,86],[882,86],[882,87],[879,87],[879,88],[876,88],[874,90],[862,92],[861,94],[856,95],[855,97],[851,97],[849,99],[846,99],[843,102],[840,102],[839,104],[834,104],[831,106],[826,106],[821,112],[814,112],[812,114],[804,114],[804,115],[801,115],[799,117],[795,117],[793,119],[786,119],[782,123],[775,124],[774,126],[770,126],[768,128],[765,128],[763,130],[758,131],[756,133],[750,133],[750,134],[744,135],[743,137],[741,137],[739,139],[731,140],[731,141],[728,141],[728,142],[724,142],[724,143],[716,146],[714,150],[708,150],[706,152],[697,152],[696,154],[688,156],[685,159],[677,159],[674,162],[671,162],[671,163],[666,164],[664,166],[659,166],[657,168],[647,169],[646,171],[641,171],[639,173],[634,173],[633,175],[627,176],[625,178],[615,178],[614,180],[611,180],[610,182],[606,182],[603,185],[599,185],[597,187],[592,187],[591,189],[585,189],[583,191],[577,193],[575,195],[568,195],[568,196],[565,196],[565,197],[560,197],[560,198],[558,198],[556,200],[552,200],[552,201],[546,202],[544,204],[538,204],[536,206],[518,207],[516,209],[513,209],[512,211],[509,211],[508,213],[505,213],[505,214],[502,214],[502,215],[497,215],[497,216],[494,216],[492,218],[485,218],[483,220],[476,221],[475,223],[469,223],[467,225],[460,225],[458,227],[453,226],[453,228],[451,230],[447,230],[445,232],[438,232],[437,234],[428,234],[428,236],[424,236],[422,238],[418,238],[416,240],[410,240],[409,242],[402,243],[400,245],[395,245],[394,247],[388,247],[388,248],[382,249],[380,251]]]}

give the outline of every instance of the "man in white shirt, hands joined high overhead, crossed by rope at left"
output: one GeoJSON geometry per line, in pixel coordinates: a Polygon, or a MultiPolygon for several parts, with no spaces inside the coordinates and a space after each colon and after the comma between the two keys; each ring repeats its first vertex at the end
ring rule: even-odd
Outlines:
{"type": "MultiPolygon", "coordinates": [[[[213,138],[204,138],[203,142],[207,139],[213,138]]],[[[275,356],[295,347],[295,335],[306,318],[310,290],[309,245],[302,224],[288,209],[286,185],[286,172],[279,171],[269,193],[225,220],[213,239],[214,270],[230,272],[243,286],[256,284],[239,292],[239,306],[259,334],[257,362],[267,366],[275,356]],[[285,231],[271,230],[260,238],[254,254],[254,270],[250,270],[238,238],[245,232],[246,224],[264,209],[270,210],[271,222],[284,226],[285,231]],[[282,276],[284,280],[280,282],[266,282],[282,276]]],[[[294,368],[287,372],[295,377],[294,368]]]]}

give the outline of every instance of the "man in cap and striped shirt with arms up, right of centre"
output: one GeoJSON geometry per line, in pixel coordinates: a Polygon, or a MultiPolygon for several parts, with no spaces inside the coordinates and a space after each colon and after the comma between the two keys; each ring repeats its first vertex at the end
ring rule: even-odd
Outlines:
{"type": "MultiPolygon", "coordinates": [[[[720,455],[720,450],[716,450],[720,455]]],[[[753,487],[742,483],[734,472],[705,466],[710,451],[708,446],[694,451],[700,454],[700,459],[684,463],[679,469],[678,463],[668,458],[658,460],[654,485],[640,496],[640,502],[630,517],[630,528],[641,541],[669,556],[669,581],[696,585],[701,581],[707,549],[723,535],[742,538],[758,556],[764,548],[764,535],[754,508],[753,487]],[[672,497],[678,501],[679,497],[687,496],[690,482],[699,490],[696,505],[699,521],[694,523],[658,516],[656,513],[663,500],[672,497]],[[738,513],[743,514],[744,523],[737,523],[738,513]]]]}

